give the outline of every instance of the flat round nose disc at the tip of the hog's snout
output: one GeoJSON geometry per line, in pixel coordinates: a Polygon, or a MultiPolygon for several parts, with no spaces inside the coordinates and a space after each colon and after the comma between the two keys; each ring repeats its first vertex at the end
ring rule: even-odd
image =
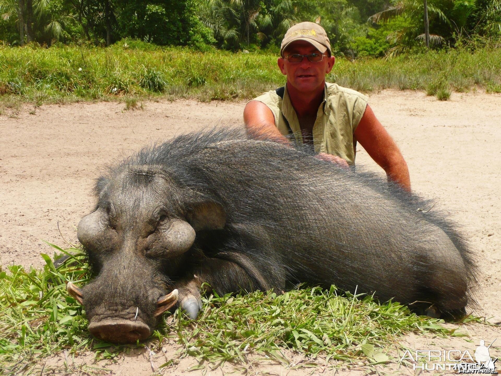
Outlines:
{"type": "Polygon", "coordinates": [[[91,322],[89,331],[95,337],[111,343],[134,343],[150,336],[150,328],[144,322],[123,318],[108,318],[91,322]]]}

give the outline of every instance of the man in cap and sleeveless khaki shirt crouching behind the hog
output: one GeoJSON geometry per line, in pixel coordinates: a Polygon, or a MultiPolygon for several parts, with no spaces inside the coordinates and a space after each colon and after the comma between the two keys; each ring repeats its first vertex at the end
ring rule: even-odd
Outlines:
{"type": "Polygon", "coordinates": [[[344,166],[355,163],[356,143],[410,192],[407,163],[397,145],[376,119],[368,98],[325,82],[335,58],[325,30],[312,22],[291,27],[282,41],[278,66],[287,76],[284,88],[250,101],[243,111],[248,131],[313,142],[317,157],[344,166]]]}

